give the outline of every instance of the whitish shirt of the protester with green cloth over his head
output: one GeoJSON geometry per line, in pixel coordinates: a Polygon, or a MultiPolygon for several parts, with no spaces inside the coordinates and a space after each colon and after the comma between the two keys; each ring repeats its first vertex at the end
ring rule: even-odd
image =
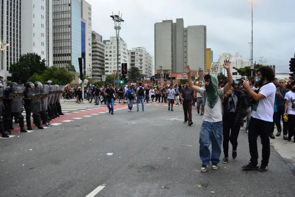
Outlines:
{"type": "MultiPolygon", "coordinates": [[[[208,104],[208,96],[206,96],[206,101],[205,101],[205,109],[204,109],[204,115],[203,115],[203,121],[208,121],[208,122],[220,122],[222,121],[222,102],[221,98],[223,98],[224,93],[223,93],[223,88],[218,89],[218,100],[216,104],[214,105],[213,108],[209,107],[208,104]]],[[[201,88],[200,89],[200,94],[201,96],[204,96],[204,93],[206,92],[206,89],[201,88]]]]}

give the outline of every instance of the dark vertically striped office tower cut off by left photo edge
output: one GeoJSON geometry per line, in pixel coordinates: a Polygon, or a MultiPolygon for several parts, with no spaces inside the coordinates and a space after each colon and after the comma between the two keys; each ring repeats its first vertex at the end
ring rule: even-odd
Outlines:
{"type": "MultiPolygon", "coordinates": [[[[21,4],[20,0],[9,0],[0,2],[1,22],[1,75],[7,80],[9,68],[12,63],[18,61],[21,54],[21,4]],[[10,46],[6,46],[9,44],[10,46]]],[[[22,4],[23,5],[23,4],[22,4]]]]}

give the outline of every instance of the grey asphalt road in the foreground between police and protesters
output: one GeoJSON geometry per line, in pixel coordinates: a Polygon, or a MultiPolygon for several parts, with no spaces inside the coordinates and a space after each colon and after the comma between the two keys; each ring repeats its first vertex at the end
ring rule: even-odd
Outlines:
{"type": "Polygon", "coordinates": [[[236,159],[200,173],[195,108],[188,126],[181,106],[122,107],[0,139],[0,196],[295,196],[295,173],[273,148],[268,172],[241,170],[243,131],[236,159]]]}

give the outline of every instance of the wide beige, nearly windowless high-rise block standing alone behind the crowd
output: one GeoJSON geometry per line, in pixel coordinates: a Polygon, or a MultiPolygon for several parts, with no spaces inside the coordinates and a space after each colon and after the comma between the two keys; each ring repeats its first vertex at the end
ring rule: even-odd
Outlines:
{"type": "Polygon", "coordinates": [[[155,69],[182,73],[187,64],[206,69],[206,26],[184,28],[182,18],[155,23],[155,69]]]}

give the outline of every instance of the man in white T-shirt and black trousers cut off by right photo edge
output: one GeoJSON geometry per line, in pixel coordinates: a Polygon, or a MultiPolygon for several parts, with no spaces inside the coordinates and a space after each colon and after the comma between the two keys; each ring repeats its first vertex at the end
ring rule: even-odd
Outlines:
{"type": "MultiPolygon", "coordinates": [[[[291,90],[285,95],[285,113],[288,116],[288,137],[287,140],[291,141],[294,136],[295,130],[295,81],[291,83],[291,90]]],[[[295,137],[293,138],[295,142],[295,137]]]]}

